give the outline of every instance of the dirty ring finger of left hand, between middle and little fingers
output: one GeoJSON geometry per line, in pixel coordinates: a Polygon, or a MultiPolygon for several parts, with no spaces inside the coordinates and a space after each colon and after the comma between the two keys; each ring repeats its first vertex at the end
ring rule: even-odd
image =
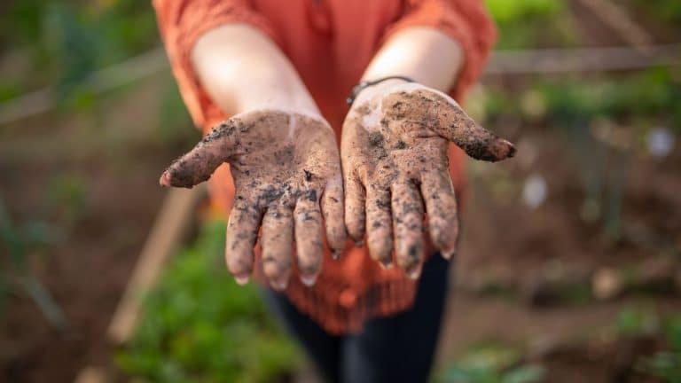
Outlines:
{"type": "Polygon", "coordinates": [[[317,192],[298,199],[294,210],[298,270],[305,285],[314,285],[322,266],[322,215],[317,192]]]}

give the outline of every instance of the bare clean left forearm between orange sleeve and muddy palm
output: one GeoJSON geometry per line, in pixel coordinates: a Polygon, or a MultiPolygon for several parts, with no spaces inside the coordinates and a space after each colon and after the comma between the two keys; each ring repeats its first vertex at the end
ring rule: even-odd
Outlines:
{"type": "Polygon", "coordinates": [[[227,114],[278,109],[318,115],[294,66],[277,45],[246,24],[200,37],[192,63],[210,98],[227,114]]]}

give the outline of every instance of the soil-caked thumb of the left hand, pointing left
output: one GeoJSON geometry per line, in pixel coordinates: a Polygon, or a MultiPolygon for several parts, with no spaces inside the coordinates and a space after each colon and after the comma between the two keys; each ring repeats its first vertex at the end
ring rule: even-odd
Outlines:
{"type": "Polygon", "coordinates": [[[215,168],[231,155],[238,124],[227,120],[215,126],[190,152],[170,164],[160,176],[159,184],[191,188],[210,178],[215,168]]]}

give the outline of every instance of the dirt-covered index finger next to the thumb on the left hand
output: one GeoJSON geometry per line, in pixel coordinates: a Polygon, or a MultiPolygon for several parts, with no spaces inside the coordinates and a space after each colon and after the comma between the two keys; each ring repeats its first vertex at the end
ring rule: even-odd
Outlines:
{"type": "Polygon", "coordinates": [[[224,258],[227,269],[239,285],[248,282],[253,270],[253,247],[262,220],[262,209],[252,201],[237,196],[227,222],[224,258]]]}

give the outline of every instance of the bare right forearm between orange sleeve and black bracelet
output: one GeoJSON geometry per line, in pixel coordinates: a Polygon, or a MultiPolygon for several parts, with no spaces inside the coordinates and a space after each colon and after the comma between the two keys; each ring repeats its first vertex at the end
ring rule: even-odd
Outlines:
{"type": "Polygon", "coordinates": [[[461,47],[449,35],[432,27],[410,27],[393,35],[381,47],[362,79],[403,75],[447,91],[456,82],[462,64],[461,47]]]}

